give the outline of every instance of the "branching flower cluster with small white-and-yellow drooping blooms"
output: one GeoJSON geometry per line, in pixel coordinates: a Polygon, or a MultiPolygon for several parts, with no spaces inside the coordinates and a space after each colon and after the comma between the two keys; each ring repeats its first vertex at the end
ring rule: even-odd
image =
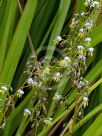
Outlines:
{"type": "MultiPolygon", "coordinates": [[[[84,5],[88,8],[87,12],[74,14],[69,27],[68,35],[56,36],[52,41],[56,44],[56,50],[61,51],[61,55],[55,54],[56,59],[52,59],[50,65],[47,64],[48,58],[35,60],[31,55],[26,64],[24,75],[26,75],[26,82],[18,88],[16,93],[11,95],[11,103],[16,104],[14,98],[22,99],[25,96],[25,90],[33,89],[34,96],[32,97],[30,106],[23,110],[23,116],[30,118],[32,128],[41,127],[44,124],[50,124],[53,119],[52,115],[47,117],[47,100],[49,92],[56,89],[66,71],[66,77],[72,82],[72,89],[76,89],[76,107],[73,117],[81,116],[83,107],[88,106],[88,81],[84,79],[84,74],[87,69],[87,60],[93,57],[94,48],[91,44],[91,37],[95,27],[95,22],[91,19],[90,14],[94,8],[99,7],[98,1],[86,0],[84,5]],[[37,65],[35,65],[37,64],[37,65]]],[[[4,94],[10,89],[6,85],[1,85],[0,93],[4,94]]],[[[10,94],[8,94],[9,99],[10,94]]],[[[67,98],[67,97],[66,97],[67,98]]],[[[61,102],[63,96],[60,93],[55,93],[52,100],[61,102]]],[[[4,122],[9,105],[5,108],[4,122]],[[8,107],[8,108],[7,108],[8,107]]],[[[14,108],[14,107],[13,107],[14,108]]],[[[73,119],[75,121],[75,119],[73,119]]]]}

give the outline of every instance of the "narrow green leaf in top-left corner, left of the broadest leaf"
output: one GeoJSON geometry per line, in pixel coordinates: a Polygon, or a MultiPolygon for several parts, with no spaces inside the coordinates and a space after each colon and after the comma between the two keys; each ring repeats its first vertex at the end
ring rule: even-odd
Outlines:
{"type": "MultiPolygon", "coordinates": [[[[0,29],[0,71],[2,70],[4,58],[8,46],[8,39],[10,38],[9,35],[11,33],[11,27],[14,25],[14,17],[16,15],[17,9],[17,1],[15,0],[8,0],[4,19],[0,29]]],[[[10,39],[9,39],[10,40],[10,39]]]]}

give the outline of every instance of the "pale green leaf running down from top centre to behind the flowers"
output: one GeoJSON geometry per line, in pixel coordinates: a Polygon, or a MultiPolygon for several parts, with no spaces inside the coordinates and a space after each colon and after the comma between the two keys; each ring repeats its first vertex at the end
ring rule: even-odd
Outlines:
{"type": "Polygon", "coordinates": [[[48,44],[48,48],[47,48],[47,52],[46,52],[46,57],[48,58],[48,61],[47,61],[48,64],[50,63],[50,61],[52,59],[52,56],[53,56],[53,53],[54,53],[54,50],[56,47],[53,40],[56,39],[56,36],[60,35],[60,33],[62,31],[64,22],[65,22],[65,19],[67,16],[67,12],[68,12],[68,9],[70,6],[70,2],[71,2],[70,0],[64,0],[64,1],[61,0],[61,2],[60,2],[60,7],[58,10],[56,23],[53,27],[52,34],[51,34],[49,44],[48,44]]]}

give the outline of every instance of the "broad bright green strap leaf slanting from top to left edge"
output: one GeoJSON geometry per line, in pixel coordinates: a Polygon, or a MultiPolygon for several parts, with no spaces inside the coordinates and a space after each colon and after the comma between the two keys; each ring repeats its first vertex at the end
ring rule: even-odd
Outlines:
{"type": "Polygon", "coordinates": [[[30,28],[38,0],[28,0],[25,10],[19,20],[13,36],[3,70],[0,75],[0,82],[11,84],[24,43],[30,28]]]}

